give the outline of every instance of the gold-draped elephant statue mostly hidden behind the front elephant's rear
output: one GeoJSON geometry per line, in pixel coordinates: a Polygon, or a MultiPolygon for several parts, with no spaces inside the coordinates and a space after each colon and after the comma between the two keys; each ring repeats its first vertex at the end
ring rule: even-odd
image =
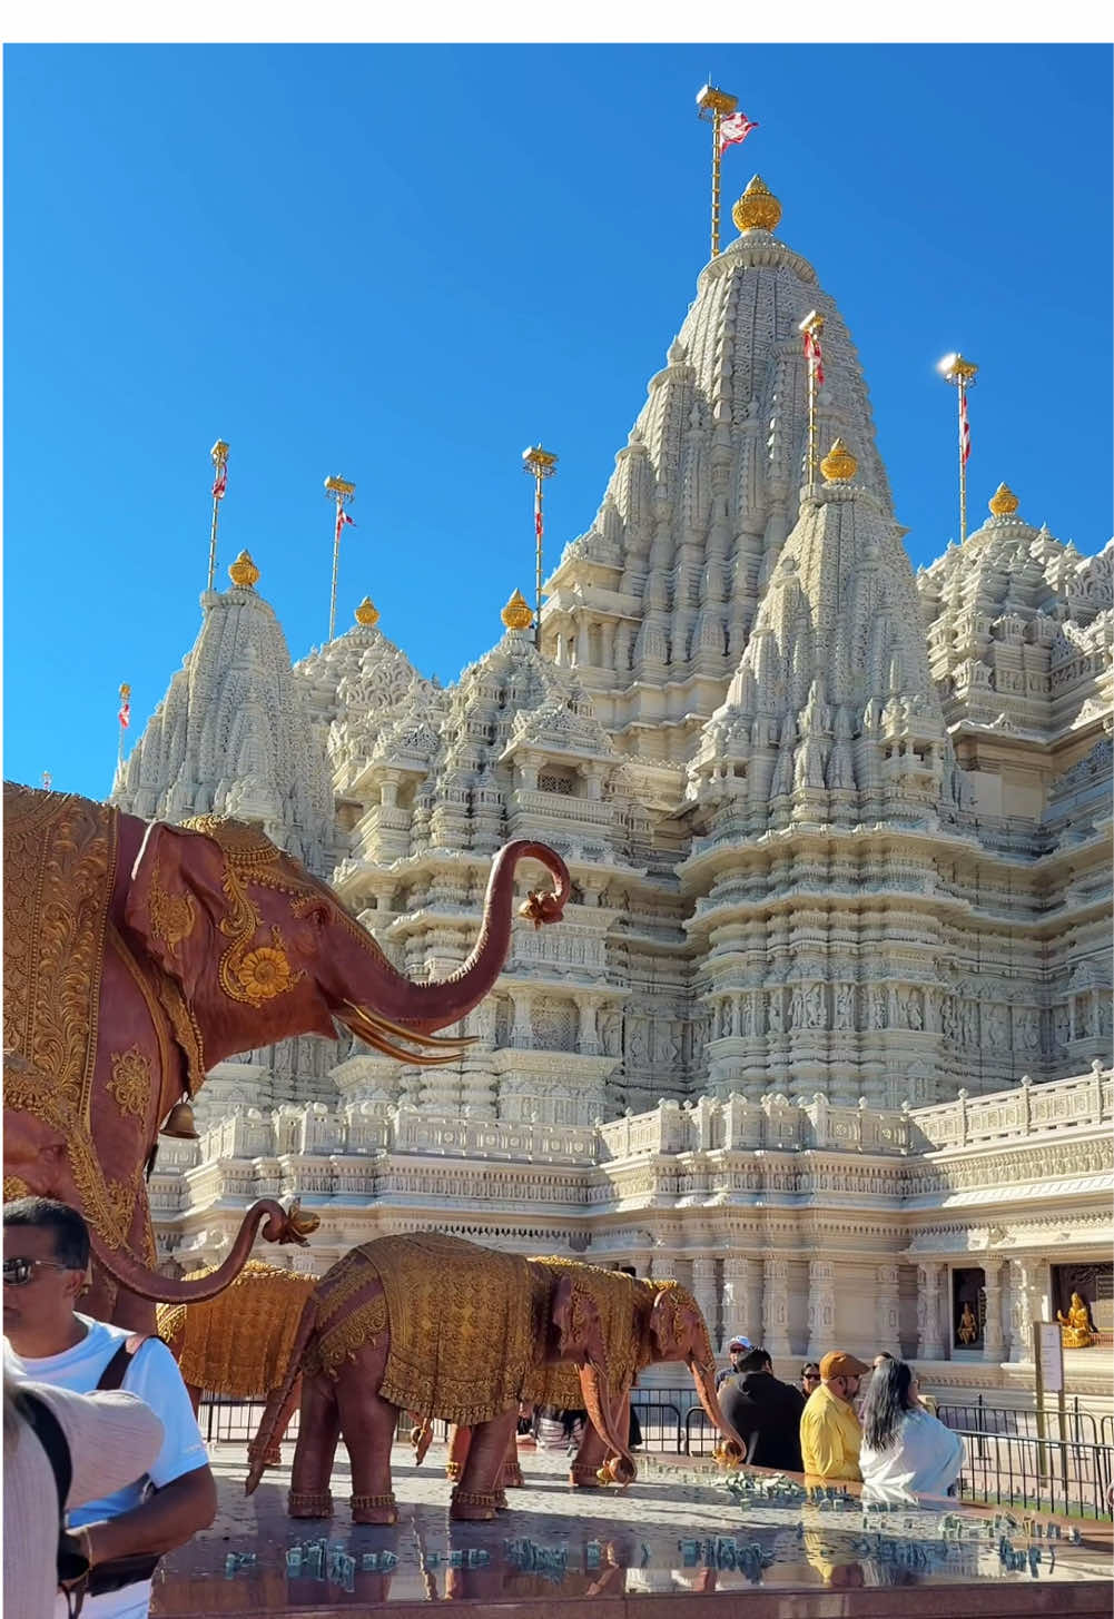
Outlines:
{"type": "MultiPolygon", "coordinates": [[[[196,1305],[159,1305],[159,1337],[178,1362],[194,1412],[207,1389],[240,1400],[266,1400],[278,1387],[293,1352],[301,1311],[316,1277],[248,1260],[235,1282],[196,1305]]],[[[282,1462],[278,1446],[298,1409],[296,1381],[267,1457],[282,1462]]]]}

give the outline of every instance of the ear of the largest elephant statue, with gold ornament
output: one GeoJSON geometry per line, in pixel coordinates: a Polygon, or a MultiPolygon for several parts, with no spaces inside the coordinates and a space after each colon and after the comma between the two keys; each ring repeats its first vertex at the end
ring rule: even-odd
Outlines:
{"type": "Polygon", "coordinates": [[[201,832],[155,822],[144,839],[125,902],[128,929],[176,978],[186,997],[214,950],[212,929],[227,911],[223,853],[201,832]]]}

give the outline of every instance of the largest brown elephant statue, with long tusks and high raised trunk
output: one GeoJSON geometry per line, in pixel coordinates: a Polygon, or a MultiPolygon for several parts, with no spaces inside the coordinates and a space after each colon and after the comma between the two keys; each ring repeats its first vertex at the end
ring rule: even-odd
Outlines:
{"type": "Polygon", "coordinates": [[[557,879],[555,894],[521,907],[534,924],[560,920],[570,892],[544,843],[508,843],[468,960],[442,983],[411,984],[337,895],[254,826],[146,822],[5,782],[3,858],[5,1198],[78,1206],[94,1250],[86,1308],[139,1331],[154,1329],[147,1300],[220,1292],[264,1217],[270,1240],[301,1240],[316,1224],[283,1227],[269,1205],[244,1216],[212,1274],[159,1274],[144,1166],[206,1072],[291,1035],[335,1039],[334,1020],[405,1062],[452,1060],[466,1043],[434,1031],[458,1023],[502,968],[518,861],[557,879]]]}

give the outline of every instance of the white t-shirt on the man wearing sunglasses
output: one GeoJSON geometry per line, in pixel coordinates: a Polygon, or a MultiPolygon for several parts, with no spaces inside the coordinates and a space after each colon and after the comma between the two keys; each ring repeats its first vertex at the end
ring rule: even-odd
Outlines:
{"type": "MultiPolygon", "coordinates": [[[[131,1334],[125,1328],[92,1321],[89,1316],[79,1315],[78,1321],[86,1326],[86,1336],[73,1349],[63,1350],[62,1355],[23,1360],[5,1339],[3,1357],[10,1375],[53,1384],[60,1389],[73,1389],[76,1394],[91,1394],[115,1352],[131,1334]]],[[[162,1489],[164,1485],[181,1478],[183,1473],[207,1465],[209,1455],[198,1428],[198,1418],[193,1413],[178,1365],[165,1344],[157,1339],[144,1344],[133,1355],[121,1387],[130,1394],[138,1394],[162,1423],[162,1449],[147,1473],[152,1485],[162,1489]]],[[[112,1496],[78,1507],[68,1514],[70,1527],[79,1528],[83,1523],[118,1517],[139,1506],[144,1483],[146,1480],[141,1478],[134,1485],[117,1489],[112,1496]]],[[[151,1580],[144,1580],[125,1585],[120,1591],[107,1591],[104,1596],[87,1596],[81,1619],[146,1619],[149,1606],[151,1580]]],[[[57,1619],[65,1619],[66,1611],[65,1598],[60,1596],[55,1608],[57,1619]]]]}

